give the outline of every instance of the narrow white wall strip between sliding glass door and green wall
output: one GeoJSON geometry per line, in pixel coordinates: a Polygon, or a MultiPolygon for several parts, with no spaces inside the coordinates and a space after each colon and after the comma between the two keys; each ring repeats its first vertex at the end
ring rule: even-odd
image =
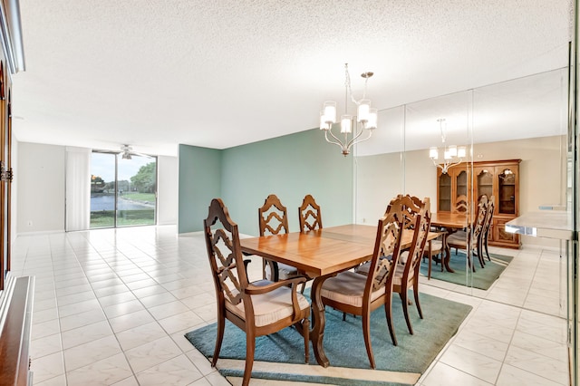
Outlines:
{"type": "Polygon", "coordinates": [[[179,164],[177,157],[157,158],[157,223],[173,225],[178,223],[179,164]]]}

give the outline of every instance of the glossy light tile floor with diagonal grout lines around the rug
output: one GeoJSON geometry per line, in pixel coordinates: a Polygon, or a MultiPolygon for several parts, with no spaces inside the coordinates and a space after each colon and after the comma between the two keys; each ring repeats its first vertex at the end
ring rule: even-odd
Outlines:
{"type": "MultiPolygon", "coordinates": [[[[568,384],[560,256],[492,249],[515,258],[488,291],[422,278],[421,291],[474,309],[417,384],[568,384]]],[[[183,337],[216,318],[202,234],[167,226],[18,236],[12,256],[11,275],[35,276],[35,385],[229,384],[183,337]]],[[[257,278],[261,263],[250,267],[257,278]]]]}

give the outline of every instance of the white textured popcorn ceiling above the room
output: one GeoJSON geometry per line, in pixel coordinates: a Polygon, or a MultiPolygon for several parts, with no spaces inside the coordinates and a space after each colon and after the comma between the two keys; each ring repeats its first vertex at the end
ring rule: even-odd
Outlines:
{"type": "Polygon", "coordinates": [[[17,140],[175,155],[565,67],[570,0],[20,0],[17,140]],[[342,110],[339,103],[339,110],[342,110]]]}

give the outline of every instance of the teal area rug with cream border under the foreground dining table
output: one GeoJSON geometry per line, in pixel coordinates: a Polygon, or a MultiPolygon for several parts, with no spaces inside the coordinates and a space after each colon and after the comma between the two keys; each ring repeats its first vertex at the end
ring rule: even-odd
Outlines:
{"type": "MultiPolygon", "coordinates": [[[[310,349],[310,365],[304,364],[304,341],[293,328],[256,339],[253,378],[284,381],[332,383],[337,385],[414,384],[437,354],[458,331],[471,306],[429,294],[420,294],[425,319],[420,319],[414,304],[410,306],[411,335],[405,323],[401,299],[392,298],[393,323],[399,345],[393,346],[384,309],[372,313],[372,349],[377,370],[370,369],[362,338],[361,318],[327,308],[324,328],[324,350],[331,367],[318,366],[310,349]],[[267,362],[266,364],[259,362],[267,362]],[[273,365],[278,362],[279,365],[273,365]],[[293,365],[285,365],[291,363],[293,365]],[[346,368],[346,369],[342,369],[346,368]],[[355,370],[362,369],[362,370],[355,370]],[[412,381],[401,381],[407,375],[412,381]]],[[[185,334],[199,352],[210,358],[216,343],[216,324],[185,334]]],[[[241,377],[246,357],[246,333],[227,322],[219,353],[218,370],[224,376],[241,377]],[[228,361],[228,359],[239,361],[228,361]]]]}

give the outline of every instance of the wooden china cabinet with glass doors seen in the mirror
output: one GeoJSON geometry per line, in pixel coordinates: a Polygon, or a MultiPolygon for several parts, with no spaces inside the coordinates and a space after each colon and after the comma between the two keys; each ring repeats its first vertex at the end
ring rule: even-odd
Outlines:
{"type": "Polygon", "coordinates": [[[450,212],[455,200],[466,195],[477,200],[481,195],[494,196],[493,224],[488,235],[490,246],[518,248],[519,236],[507,233],[507,221],[519,215],[519,163],[521,159],[462,162],[447,173],[437,169],[437,210],[450,212]],[[473,192],[468,192],[473,185],[473,192]]]}

